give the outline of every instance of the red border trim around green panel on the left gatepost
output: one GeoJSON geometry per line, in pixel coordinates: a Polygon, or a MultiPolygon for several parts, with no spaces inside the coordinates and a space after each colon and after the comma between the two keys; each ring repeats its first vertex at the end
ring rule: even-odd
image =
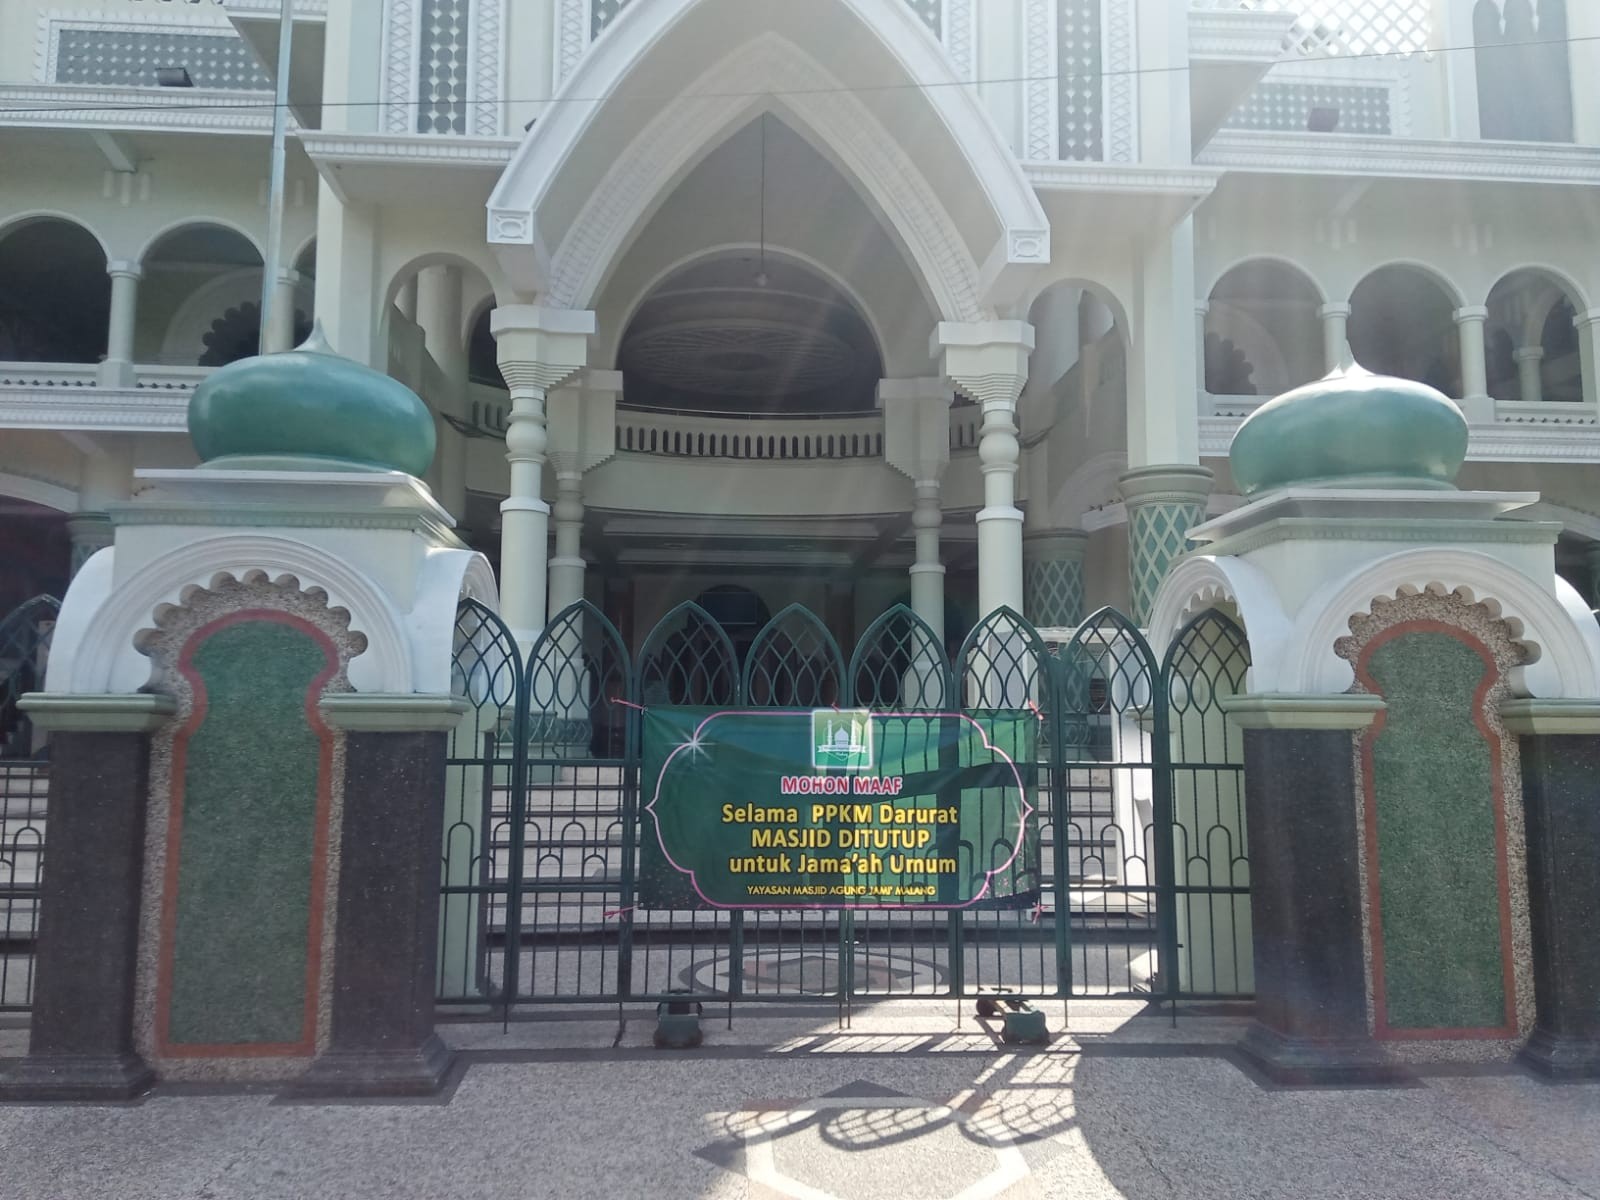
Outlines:
{"type": "Polygon", "coordinates": [[[309,1058],[317,1053],[317,992],[322,979],[322,925],[328,885],[328,818],[333,806],[333,730],[322,720],[317,701],[328,682],[339,674],[339,651],[333,638],[307,621],[272,608],[250,608],[229,613],[197,629],[178,656],[178,672],[189,680],[194,694],[194,712],[173,739],[171,792],[166,814],[166,874],[162,883],[162,950],[155,984],[155,1053],[162,1058],[309,1058]],[[246,621],[270,621],[307,634],[328,659],[328,666],[310,682],[306,691],[306,718],[317,734],[317,813],[312,827],[310,864],[310,914],[306,931],[306,1010],[299,1042],[242,1042],[242,1043],[173,1043],[170,1038],[173,992],[173,939],[178,925],[178,867],[182,850],[184,768],[189,758],[189,738],[200,728],[206,715],[206,691],[194,669],[195,651],[229,626],[246,621]]]}

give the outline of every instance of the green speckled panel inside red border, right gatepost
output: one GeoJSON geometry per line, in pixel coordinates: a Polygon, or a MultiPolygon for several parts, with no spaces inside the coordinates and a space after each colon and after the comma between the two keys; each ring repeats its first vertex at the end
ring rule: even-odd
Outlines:
{"type": "Polygon", "coordinates": [[[1506,1022],[1493,757],[1474,723],[1486,670],[1440,632],[1402,634],[1368,658],[1389,706],[1371,755],[1392,1029],[1506,1022]]]}

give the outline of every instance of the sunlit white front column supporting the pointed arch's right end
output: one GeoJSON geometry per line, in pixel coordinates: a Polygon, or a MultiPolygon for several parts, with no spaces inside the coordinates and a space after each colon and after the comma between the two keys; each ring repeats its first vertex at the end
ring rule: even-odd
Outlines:
{"type": "Polygon", "coordinates": [[[1022,510],[1016,506],[1021,446],[1016,402],[1027,384],[1034,326],[1026,322],[941,323],[931,352],[944,376],[982,406],[978,461],[984,507],[978,514],[978,619],[997,608],[1022,613],[1022,510]]]}

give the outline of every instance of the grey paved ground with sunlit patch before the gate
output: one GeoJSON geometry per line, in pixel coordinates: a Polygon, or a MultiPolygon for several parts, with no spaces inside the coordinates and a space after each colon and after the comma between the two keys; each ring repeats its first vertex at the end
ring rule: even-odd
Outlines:
{"type": "Polygon", "coordinates": [[[0,1106],[0,1197],[1600,1197],[1600,1085],[1267,1090],[1237,1021],[1131,1011],[1075,1005],[1045,1051],[928,1005],[739,1013],[686,1053],[645,1016],[451,1026],[438,1102],[0,1106]]]}

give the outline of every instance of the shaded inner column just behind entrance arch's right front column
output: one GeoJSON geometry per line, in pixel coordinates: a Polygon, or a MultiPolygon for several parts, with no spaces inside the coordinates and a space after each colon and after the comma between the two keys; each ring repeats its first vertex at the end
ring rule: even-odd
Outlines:
{"type": "Polygon", "coordinates": [[[883,408],[883,459],[910,478],[912,536],[910,608],[944,645],[944,563],[939,528],[944,525],[939,490],[950,466],[950,400],[944,379],[885,379],[878,384],[883,408]]]}

